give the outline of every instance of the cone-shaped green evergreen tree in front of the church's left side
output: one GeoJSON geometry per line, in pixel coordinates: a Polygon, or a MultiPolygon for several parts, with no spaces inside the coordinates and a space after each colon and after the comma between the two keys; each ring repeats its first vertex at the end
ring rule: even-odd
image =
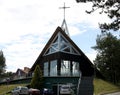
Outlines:
{"type": "Polygon", "coordinates": [[[36,89],[42,89],[43,87],[43,74],[39,65],[37,65],[35,68],[34,76],[31,80],[30,86],[36,89]]]}

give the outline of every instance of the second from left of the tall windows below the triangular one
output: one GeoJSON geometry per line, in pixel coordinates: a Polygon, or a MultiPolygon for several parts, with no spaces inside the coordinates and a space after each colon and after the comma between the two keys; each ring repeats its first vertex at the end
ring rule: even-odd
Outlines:
{"type": "Polygon", "coordinates": [[[50,76],[57,76],[57,60],[50,61],[50,76]]]}

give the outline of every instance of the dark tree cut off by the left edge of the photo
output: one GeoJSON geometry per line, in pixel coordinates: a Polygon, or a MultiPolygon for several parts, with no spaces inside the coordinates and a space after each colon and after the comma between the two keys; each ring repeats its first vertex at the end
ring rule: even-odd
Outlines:
{"type": "Polygon", "coordinates": [[[5,57],[2,51],[0,51],[0,75],[2,75],[5,72],[5,57]]]}

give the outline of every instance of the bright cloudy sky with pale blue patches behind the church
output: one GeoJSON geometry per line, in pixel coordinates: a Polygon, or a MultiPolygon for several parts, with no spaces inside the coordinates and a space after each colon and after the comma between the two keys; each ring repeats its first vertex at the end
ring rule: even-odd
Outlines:
{"type": "Polygon", "coordinates": [[[91,3],[75,0],[0,0],[0,50],[6,58],[7,71],[31,67],[45,44],[63,21],[63,7],[71,39],[92,61],[91,49],[100,33],[98,22],[109,22],[105,15],[86,14],[91,3]]]}

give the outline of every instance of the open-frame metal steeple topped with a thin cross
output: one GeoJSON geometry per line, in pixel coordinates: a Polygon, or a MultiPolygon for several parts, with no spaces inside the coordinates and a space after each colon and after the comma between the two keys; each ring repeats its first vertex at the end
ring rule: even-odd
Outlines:
{"type": "Polygon", "coordinates": [[[70,8],[70,7],[66,7],[66,6],[65,6],[65,3],[64,3],[64,6],[63,6],[63,7],[60,7],[60,8],[61,8],[61,9],[64,9],[64,18],[63,18],[63,22],[62,22],[61,28],[62,28],[62,30],[63,30],[68,36],[70,36],[69,31],[68,31],[68,28],[67,28],[67,23],[66,23],[66,20],[65,20],[65,9],[66,9],[66,8],[70,8]]]}

